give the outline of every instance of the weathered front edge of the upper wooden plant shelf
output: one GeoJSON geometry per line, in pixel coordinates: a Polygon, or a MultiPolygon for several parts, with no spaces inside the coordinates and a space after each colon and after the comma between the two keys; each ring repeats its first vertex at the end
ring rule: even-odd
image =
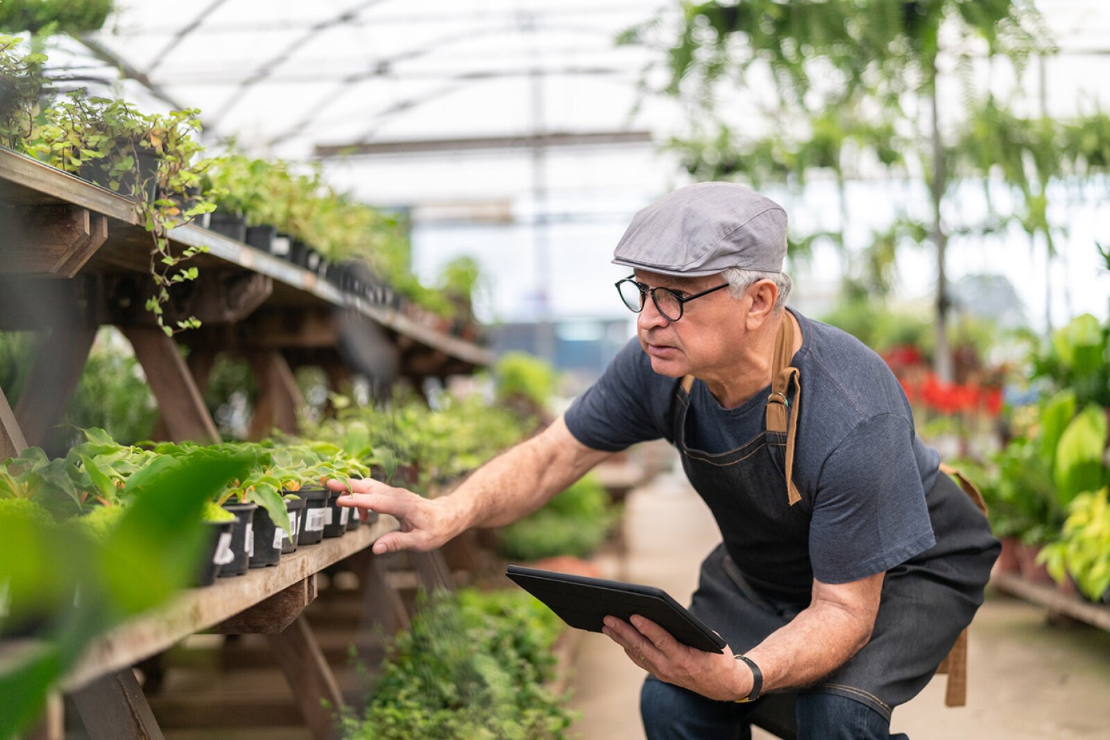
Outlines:
{"type": "MultiPolygon", "coordinates": [[[[134,203],[118,193],[0,146],[0,203],[69,204],[103,214],[109,219],[109,236],[87,270],[92,273],[147,271],[150,236],[140,224],[134,203]]],[[[198,257],[198,264],[203,266],[230,267],[271,277],[310,298],[310,305],[355,310],[397,334],[468,365],[484,366],[493,362],[493,354],[483,347],[420,324],[394,308],[344,293],[315,273],[208,229],[194,224],[178,226],[170,231],[170,240],[182,247],[208,246],[209,254],[198,257]]]]}

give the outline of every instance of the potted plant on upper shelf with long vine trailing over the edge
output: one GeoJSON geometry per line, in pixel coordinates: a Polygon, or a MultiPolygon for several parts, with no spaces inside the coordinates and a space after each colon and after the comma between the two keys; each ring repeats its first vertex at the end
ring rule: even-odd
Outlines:
{"type": "Polygon", "coordinates": [[[139,223],[151,235],[154,285],[145,308],[167,336],[200,326],[195,316],[173,326],[164,317],[170,288],[198,276],[196,267],[182,263],[206,251],[189,246],[174,253],[169,230],[215,207],[201,192],[201,176],[210,162],[196,160],[203,151],[196,140],[199,113],[186,109],[168,115],[143,114],[127,101],[85,98],[83,91],[73,91],[46,111],[46,123],[28,148],[48,164],[134,202],[139,223]]]}

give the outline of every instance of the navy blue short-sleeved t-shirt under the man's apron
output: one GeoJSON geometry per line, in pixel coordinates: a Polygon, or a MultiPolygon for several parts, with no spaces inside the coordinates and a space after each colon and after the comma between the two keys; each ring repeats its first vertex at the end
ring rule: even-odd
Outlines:
{"type": "MultiPolygon", "coordinates": [[[[791,362],[803,394],[794,483],[813,513],[809,560],[823,582],[858,580],[934,546],[925,497],[940,458],[917,437],[906,394],[878,355],[838,328],[791,313],[803,335],[791,362]]],[[[594,449],[658,438],[675,444],[669,414],[679,383],[657,375],[634,338],[567,409],[567,427],[594,449]]],[[[708,454],[743,447],[764,430],[769,393],[770,386],[724,408],[695,381],[687,446],[708,454]]]]}

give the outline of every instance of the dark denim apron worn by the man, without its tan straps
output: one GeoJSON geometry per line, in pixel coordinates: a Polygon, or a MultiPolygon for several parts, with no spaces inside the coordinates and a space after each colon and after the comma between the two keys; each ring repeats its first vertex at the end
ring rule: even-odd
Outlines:
{"type": "MultiPolygon", "coordinates": [[[[689,448],[689,395],[683,385],[672,406],[672,438],[724,540],[702,564],[690,610],[734,652],[746,652],[809,604],[809,588],[784,588],[780,578],[805,572],[813,579],[811,510],[805,499],[791,505],[784,493],[786,433],[765,430],[720,454],[689,448]]],[[[847,663],[801,690],[855,699],[889,719],[894,707],[928,683],[970,624],[982,604],[998,541],[948,476],[937,475],[926,500],[936,546],[887,571],[871,639],[847,663]]]]}

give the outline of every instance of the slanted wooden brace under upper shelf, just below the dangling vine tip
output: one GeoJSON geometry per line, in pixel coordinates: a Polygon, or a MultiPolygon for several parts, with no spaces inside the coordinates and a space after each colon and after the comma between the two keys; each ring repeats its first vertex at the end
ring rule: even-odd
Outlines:
{"type": "Polygon", "coordinates": [[[158,399],[169,437],[175,442],[220,442],[215,422],[204,406],[204,397],[178,352],[176,343],[158,327],[120,328],[134,347],[147,383],[158,399]]]}

